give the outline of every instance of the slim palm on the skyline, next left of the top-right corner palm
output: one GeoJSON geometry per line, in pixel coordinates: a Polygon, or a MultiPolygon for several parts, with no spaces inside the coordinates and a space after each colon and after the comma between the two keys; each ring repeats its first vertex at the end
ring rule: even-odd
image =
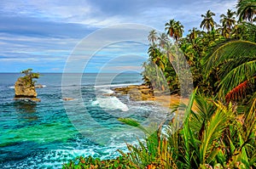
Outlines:
{"type": "Polygon", "coordinates": [[[232,10],[228,9],[227,15],[221,14],[220,15],[220,22],[222,23],[224,31],[227,31],[229,34],[229,38],[231,37],[231,31],[233,29],[233,25],[236,24],[235,15],[236,12],[232,12],[232,10]]]}

